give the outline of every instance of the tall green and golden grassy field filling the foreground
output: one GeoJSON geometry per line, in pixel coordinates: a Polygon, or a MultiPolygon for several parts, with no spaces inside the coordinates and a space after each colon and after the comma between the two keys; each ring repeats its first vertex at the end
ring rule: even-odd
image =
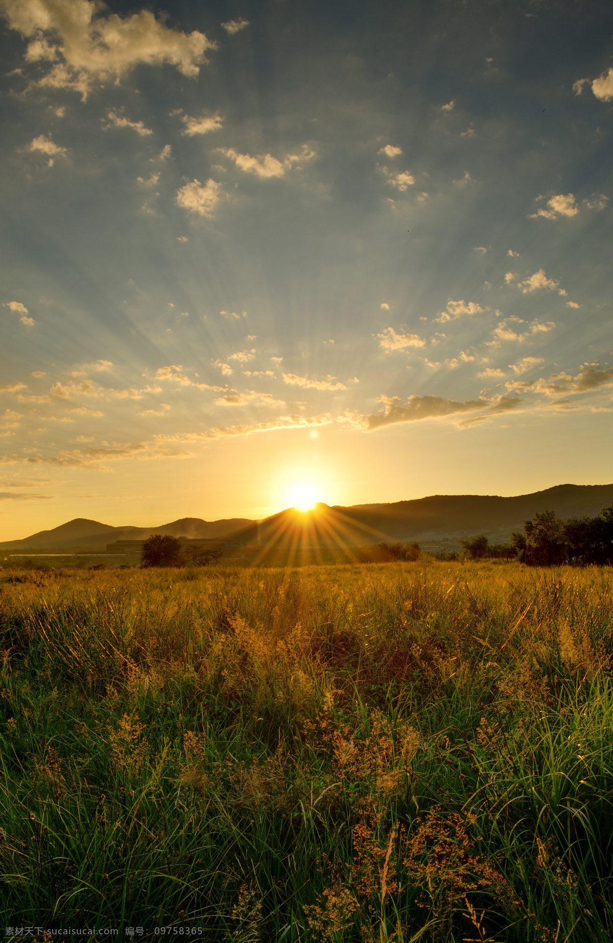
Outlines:
{"type": "Polygon", "coordinates": [[[0,576],[6,927],[613,938],[613,571],[20,578],[0,576]]]}

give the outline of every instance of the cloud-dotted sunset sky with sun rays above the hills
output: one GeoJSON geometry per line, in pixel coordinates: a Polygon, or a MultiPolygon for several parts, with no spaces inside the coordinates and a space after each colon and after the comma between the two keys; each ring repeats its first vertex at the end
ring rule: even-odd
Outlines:
{"type": "Polygon", "coordinates": [[[0,539],[613,481],[610,3],[0,17],[0,539]]]}

